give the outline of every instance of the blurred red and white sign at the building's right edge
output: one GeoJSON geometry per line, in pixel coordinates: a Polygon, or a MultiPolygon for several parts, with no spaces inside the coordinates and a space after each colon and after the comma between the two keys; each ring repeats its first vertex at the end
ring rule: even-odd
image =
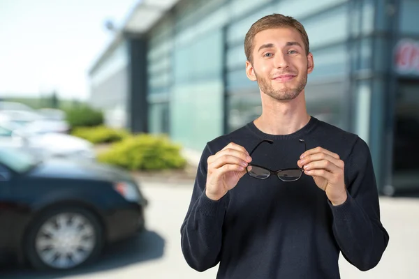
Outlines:
{"type": "Polygon", "coordinates": [[[419,75],[419,42],[399,41],[395,49],[395,69],[402,75],[419,75]]]}

